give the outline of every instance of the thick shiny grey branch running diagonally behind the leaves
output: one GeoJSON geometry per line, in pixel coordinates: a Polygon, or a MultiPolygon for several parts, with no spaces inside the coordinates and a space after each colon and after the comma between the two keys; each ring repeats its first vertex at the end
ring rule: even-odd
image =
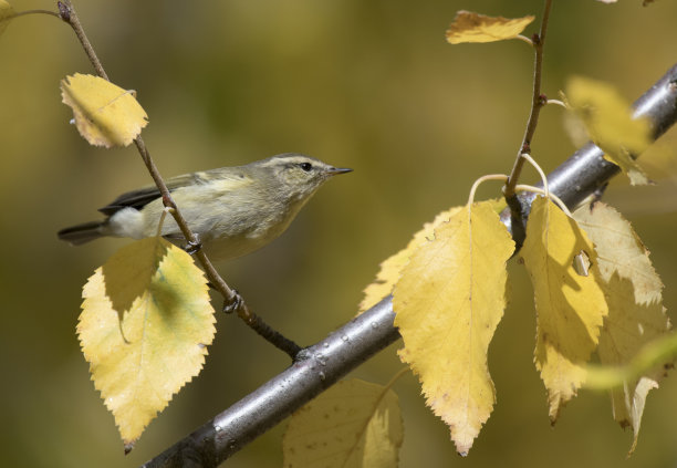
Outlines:
{"type": "MultiPolygon", "coordinates": [[[[677,65],[637,100],[635,115],[646,115],[652,119],[655,138],[675,123],[677,65]]],[[[603,159],[600,148],[587,144],[558,167],[548,180],[550,190],[572,207],[604,187],[617,173],[618,167],[603,159]]],[[[521,202],[524,212],[528,212],[531,198],[524,196],[521,202]]],[[[506,212],[501,219],[510,229],[510,214],[506,212]]],[[[523,227],[521,231],[523,232],[523,227]]],[[[519,237],[519,232],[513,232],[513,236],[519,237]]],[[[517,240],[520,242],[521,239],[517,240]]],[[[305,350],[300,362],[146,462],[144,467],[218,466],[350,371],[397,341],[399,334],[393,326],[395,315],[390,299],[385,298],[324,341],[305,350]]]]}

